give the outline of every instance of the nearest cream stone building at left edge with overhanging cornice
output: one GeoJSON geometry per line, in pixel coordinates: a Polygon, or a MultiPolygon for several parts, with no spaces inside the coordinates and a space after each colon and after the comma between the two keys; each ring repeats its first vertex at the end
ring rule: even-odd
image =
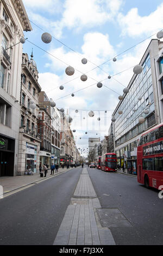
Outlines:
{"type": "Polygon", "coordinates": [[[21,0],[0,1],[0,176],[17,175],[23,31],[32,31],[21,0]]]}

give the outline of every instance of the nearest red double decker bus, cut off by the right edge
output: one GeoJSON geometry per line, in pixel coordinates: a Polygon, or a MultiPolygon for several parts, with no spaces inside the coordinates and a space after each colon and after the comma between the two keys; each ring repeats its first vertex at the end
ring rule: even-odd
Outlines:
{"type": "Polygon", "coordinates": [[[137,181],[159,189],[163,185],[163,123],[143,133],[137,147],[137,181]]]}

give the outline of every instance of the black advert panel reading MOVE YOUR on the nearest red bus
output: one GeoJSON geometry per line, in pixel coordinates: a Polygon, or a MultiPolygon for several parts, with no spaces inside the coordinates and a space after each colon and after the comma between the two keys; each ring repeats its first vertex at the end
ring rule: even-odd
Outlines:
{"type": "Polygon", "coordinates": [[[163,153],[163,141],[143,147],[143,156],[163,153]]]}

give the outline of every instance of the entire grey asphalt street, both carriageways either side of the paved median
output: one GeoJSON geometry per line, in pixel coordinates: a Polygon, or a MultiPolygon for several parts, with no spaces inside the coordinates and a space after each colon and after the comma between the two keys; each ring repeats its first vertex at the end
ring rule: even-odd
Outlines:
{"type": "Polygon", "coordinates": [[[83,174],[82,167],[74,168],[1,199],[0,245],[53,245],[79,178],[87,172],[102,207],[96,206],[98,219],[116,245],[161,245],[158,191],[140,185],[135,176],[84,167],[83,174]]]}

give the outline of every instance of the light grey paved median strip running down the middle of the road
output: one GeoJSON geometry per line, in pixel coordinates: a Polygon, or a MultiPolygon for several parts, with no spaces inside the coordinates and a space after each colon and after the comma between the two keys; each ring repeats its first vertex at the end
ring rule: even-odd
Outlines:
{"type": "Polygon", "coordinates": [[[96,209],[101,209],[101,204],[83,168],[53,245],[115,245],[110,229],[99,222],[96,209]]]}

